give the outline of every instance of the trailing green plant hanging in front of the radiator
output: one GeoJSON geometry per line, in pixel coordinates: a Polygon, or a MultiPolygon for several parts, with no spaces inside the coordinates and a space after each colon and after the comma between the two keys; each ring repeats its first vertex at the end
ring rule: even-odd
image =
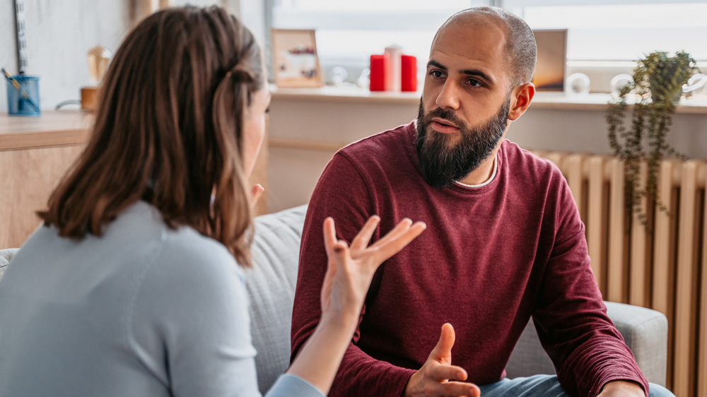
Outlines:
{"type": "Polygon", "coordinates": [[[672,57],[666,52],[652,52],[638,60],[633,69],[633,83],[624,85],[619,95],[609,101],[609,145],[624,161],[626,208],[636,214],[649,232],[652,225],[646,208],[640,205],[641,198],[648,197],[656,208],[667,212],[658,198],[658,169],[660,160],[666,156],[685,157],[667,143],[667,134],[682,95],[682,85],[696,70],[694,59],[686,52],[678,52],[672,57]],[[627,127],[624,119],[631,93],[636,102],[631,126],[627,127]],[[643,162],[648,169],[645,188],[641,188],[639,177],[643,162]]]}

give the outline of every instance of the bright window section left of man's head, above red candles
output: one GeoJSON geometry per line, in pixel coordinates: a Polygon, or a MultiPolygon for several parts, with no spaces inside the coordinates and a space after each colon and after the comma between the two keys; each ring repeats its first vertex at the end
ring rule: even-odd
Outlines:
{"type": "MultiPolygon", "coordinates": [[[[371,54],[399,45],[426,62],[437,29],[453,13],[489,0],[272,0],[272,27],[316,29],[322,69],[344,66],[356,81],[371,54]]],[[[327,76],[328,77],[328,76],[327,76]]]]}

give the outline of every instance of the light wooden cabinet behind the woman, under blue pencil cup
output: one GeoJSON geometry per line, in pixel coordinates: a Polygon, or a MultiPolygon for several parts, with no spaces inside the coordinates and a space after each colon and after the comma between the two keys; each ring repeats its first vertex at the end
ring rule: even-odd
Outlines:
{"type": "MultiPolygon", "coordinates": [[[[88,141],[93,117],[78,111],[43,111],[40,117],[0,113],[0,249],[16,248],[40,225],[66,170],[88,141]]],[[[252,183],[267,188],[267,145],[262,146],[252,183]]],[[[267,190],[266,190],[267,192],[267,190]]],[[[256,214],[267,212],[262,197],[256,214]]]]}

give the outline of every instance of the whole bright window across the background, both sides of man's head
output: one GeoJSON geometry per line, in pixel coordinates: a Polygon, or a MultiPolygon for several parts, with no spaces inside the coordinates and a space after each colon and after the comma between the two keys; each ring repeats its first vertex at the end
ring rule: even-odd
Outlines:
{"type": "MultiPolygon", "coordinates": [[[[689,52],[707,64],[707,2],[699,0],[267,0],[276,28],[316,29],[327,74],[349,70],[349,81],[368,67],[370,54],[399,45],[423,71],[433,36],[453,13],[496,5],[524,18],[533,29],[568,29],[568,73],[583,71],[592,90],[653,51],[689,52]],[[597,72],[600,75],[597,76],[597,72]]],[[[702,61],[702,62],[700,62],[702,61]]],[[[703,68],[707,69],[707,68],[703,68]]],[[[603,87],[603,85],[607,85],[603,87]]]]}

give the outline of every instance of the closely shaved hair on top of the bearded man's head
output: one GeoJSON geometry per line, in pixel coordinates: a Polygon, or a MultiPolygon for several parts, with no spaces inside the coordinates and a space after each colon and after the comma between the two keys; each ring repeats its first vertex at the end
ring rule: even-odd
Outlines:
{"type": "MultiPolygon", "coordinates": [[[[537,56],[537,46],[532,30],[518,16],[509,13],[498,7],[472,7],[460,11],[451,16],[437,30],[437,36],[447,28],[459,28],[464,25],[487,25],[489,28],[500,28],[503,30],[506,42],[504,51],[510,66],[510,85],[530,83],[532,73],[535,69],[535,59],[537,56]]],[[[433,45],[434,46],[434,45],[433,45]]]]}

